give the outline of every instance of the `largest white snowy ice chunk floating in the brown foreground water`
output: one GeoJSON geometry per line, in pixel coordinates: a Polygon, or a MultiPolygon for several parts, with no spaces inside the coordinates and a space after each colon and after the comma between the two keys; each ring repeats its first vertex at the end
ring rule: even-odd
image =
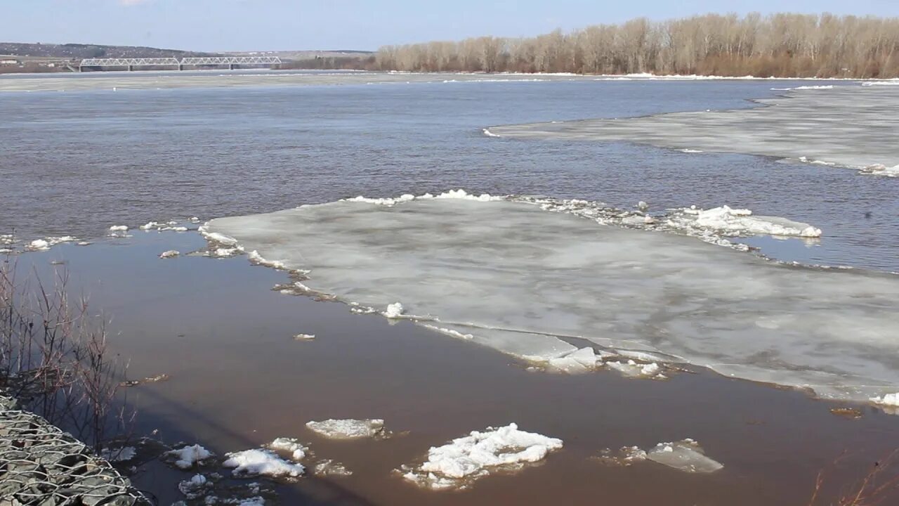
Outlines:
{"type": "Polygon", "coordinates": [[[473,430],[463,438],[432,447],[422,464],[404,465],[398,471],[407,480],[432,489],[465,488],[495,472],[520,470],[543,460],[562,447],[562,440],[505,427],[473,430]]]}

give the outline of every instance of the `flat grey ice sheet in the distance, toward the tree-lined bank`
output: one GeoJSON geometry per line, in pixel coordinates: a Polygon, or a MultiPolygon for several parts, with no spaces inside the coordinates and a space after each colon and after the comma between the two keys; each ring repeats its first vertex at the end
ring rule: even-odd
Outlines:
{"type": "Polygon", "coordinates": [[[734,111],[491,126],[492,137],[630,140],[666,148],[805,159],[899,176],[899,87],[798,87],[734,111]]]}

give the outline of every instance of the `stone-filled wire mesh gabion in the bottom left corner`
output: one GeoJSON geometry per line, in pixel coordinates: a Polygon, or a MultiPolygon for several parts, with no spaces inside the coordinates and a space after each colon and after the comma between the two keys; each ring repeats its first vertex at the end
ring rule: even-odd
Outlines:
{"type": "Polygon", "coordinates": [[[84,443],[0,402],[0,506],[143,506],[149,501],[84,443]]]}

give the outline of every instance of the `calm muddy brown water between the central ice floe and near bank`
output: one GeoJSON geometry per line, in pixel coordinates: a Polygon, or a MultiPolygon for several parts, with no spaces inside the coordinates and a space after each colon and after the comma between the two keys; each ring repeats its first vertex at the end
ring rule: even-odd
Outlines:
{"type": "MultiPolygon", "coordinates": [[[[304,477],[278,487],[282,504],[322,505],[806,505],[820,469],[821,504],[899,447],[899,417],[867,406],[849,420],[842,405],[805,393],[736,381],[703,370],[669,381],[614,372],[531,372],[512,357],[425,330],[409,321],[352,314],[342,303],[271,290],[284,272],[246,258],[159,259],[166,249],[201,248],[193,233],[136,232],[88,247],[63,245],[19,257],[49,276],[64,261],[69,288],[89,294],[111,319],[111,346],[129,377],[171,379],[128,390],[138,432],[200,443],[219,455],[278,437],[299,438],[317,457],[347,465],[349,477],[304,477]],[[296,341],[298,333],[316,339],[296,341]],[[383,418],[407,432],[386,440],[333,441],[308,420],[383,418]],[[475,429],[516,422],[562,438],[540,465],[496,474],[462,492],[417,488],[393,473],[429,447],[475,429]],[[686,474],[655,465],[609,467],[605,447],[652,447],[695,438],[725,465],[686,474]]],[[[151,463],[135,478],[160,504],[181,499],[191,474],[151,463]]],[[[899,496],[885,504],[899,503],[899,496]]]]}

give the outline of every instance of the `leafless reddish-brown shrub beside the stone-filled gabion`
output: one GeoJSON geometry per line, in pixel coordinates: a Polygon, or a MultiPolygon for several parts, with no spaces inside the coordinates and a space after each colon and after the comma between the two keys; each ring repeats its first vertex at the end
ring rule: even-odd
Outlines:
{"type": "Polygon", "coordinates": [[[10,259],[0,266],[0,392],[99,450],[133,419],[105,321],[88,312],[85,297],[70,300],[64,269],[51,285],[17,273],[10,259]]]}

